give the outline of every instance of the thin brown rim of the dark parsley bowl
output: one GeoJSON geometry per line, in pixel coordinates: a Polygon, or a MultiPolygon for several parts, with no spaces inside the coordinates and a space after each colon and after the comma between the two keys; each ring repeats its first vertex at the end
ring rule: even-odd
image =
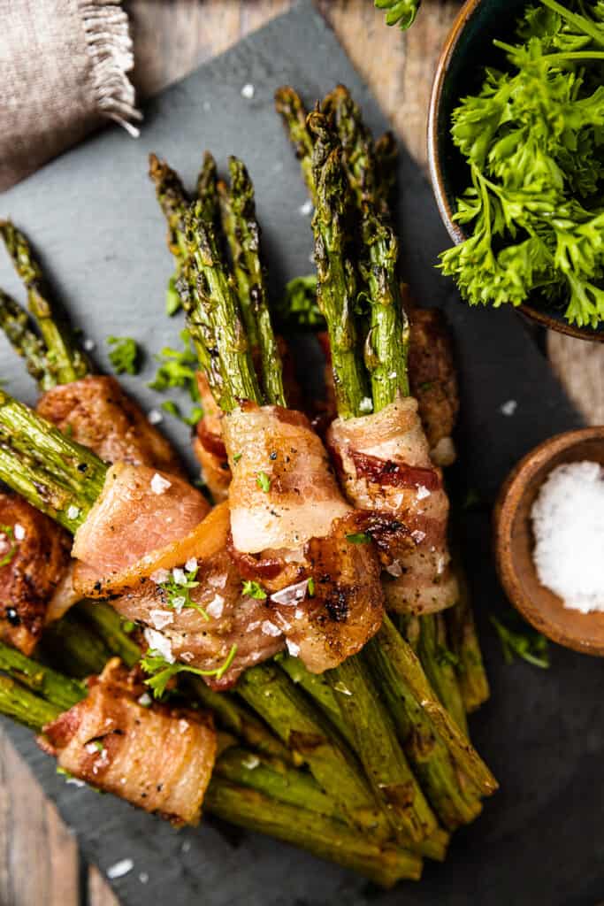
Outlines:
{"type": "MultiPolygon", "coordinates": [[[[528,0],[527,0],[528,2],[528,0]]],[[[434,80],[432,82],[432,88],[430,91],[430,101],[428,103],[428,112],[427,112],[427,166],[428,172],[430,174],[430,181],[432,183],[432,191],[436,198],[436,206],[438,207],[438,212],[440,214],[441,220],[446,227],[446,232],[449,234],[451,240],[455,243],[455,246],[458,246],[463,242],[467,236],[464,233],[464,230],[461,226],[458,226],[455,223],[454,212],[452,211],[448,198],[446,197],[445,189],[445,180],[443,177],[443,168],[440,162],[440,155],[438,152],[438,113],[440,110],[440,102],[443,94],[443,86],[445,84],[446,73],[451,62],[451,58],[455,53],[457,44],[461,37],[462,32],[465,29],[466,24],[470,20],[477,7],[483,3],[483,0],[465,0],[465,4],[461,7],[455,20],[451,26],[451,30],[446,36],[443,49],[438,57],[438,62],[436,63],[436,72],[434,75],[434,80]]],[[[532,305],[522,304],[517,306],[516,311],[523,313],[523,315],[529,318],[531,321],[541,324],[543,327],[547,327],[556,333],[565,333],[567,336],[574,337],[577,340],[585,340],[587,342],[604,342],[604,330],[593,330],[590,327],[576,327],[574,324],[570,324],[566,321],[559,321],[557,318],[553,317],[547,312],[543,312],[541,309],[533,308],[532,305]]]]}

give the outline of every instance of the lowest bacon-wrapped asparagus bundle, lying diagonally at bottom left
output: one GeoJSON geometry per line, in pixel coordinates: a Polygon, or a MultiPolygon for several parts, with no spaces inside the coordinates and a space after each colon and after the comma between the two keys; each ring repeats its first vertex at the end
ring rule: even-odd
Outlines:
{"type": "Polygon", "coordinates": [[[36,730],[70,776],[174,824],[197,824],[203,805],[384,887],[420,876],[417,856],[352,830],[312,776],[216,734],[198,709],[140,704],[119,660],[81,684],[14,654],[0,645],[0,712],[36,730]]]}

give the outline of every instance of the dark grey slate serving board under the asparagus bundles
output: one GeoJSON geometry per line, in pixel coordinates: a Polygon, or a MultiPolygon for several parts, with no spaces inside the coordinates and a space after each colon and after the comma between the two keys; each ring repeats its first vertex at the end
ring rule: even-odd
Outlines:
{"type": "MultiPolygon", "coordinates": [[[[105,130],[13,188],[0,213],[22,226],[49,262],[75,323],[98,343],[133,335],[149,352],[174,342],[178,325],[163,314],[171,263],[164,225],[146,176],[153,149],[189,184],[206,147],[225,167],[235,152],[254,178],[264,242],[276,291],[307,273],[310,218],[298,166],[273,113],[273,91],[291,82],[308,102],[345,82],[375,130],[386,122],[327,25],[309,3],[274,20],[233,50],[202,66],[151,101],[139,141],[105,130]],[[244,84],[254,85],[246,100],[244,84]]],[[[492,502],[513,463],[542,439],[580,419],[554,380],[531,335],[512,312],[470,311],[434,269],[446,233],[427,182],[403,154],[400,235],[409,282],[422,304],[438,305],[455,333],[463,419],[458,477],[492,502]],[[516,400],[513,416],[500,407],[516,400]]],[[[5,257],[0,285],[23,298],[5,257]]],[[[158,398],[145,387],[148,360],[127,379],[147,409],[158,398]]],[[[9,390],[34,400],[34,388],[4,342],[0,373],[9,390]]],[[[166,429],[183,449],[176,422],[166,429]]],[[[503,665],[488,613],[504,606],[494,576],[488,507],[464,517],[465,557],[479,612],[493,696],[472,719],[475,743],[501,782],[471,828],[455,834],[443,865],[427,865],[420,884],[378,892],[333,865],[254,834],[225,835],[205,824],[174,832],[109,796],[67,786],[31,734],[5,722],[23,757],[102,871],[129,858],[134,868],[113,882],[129,906],[594,906],[604,900],[604,670],[601,661],[555,649],[551,670],[503,665]],[[140,875],[148,882],[140,881],[140,875]]]]}

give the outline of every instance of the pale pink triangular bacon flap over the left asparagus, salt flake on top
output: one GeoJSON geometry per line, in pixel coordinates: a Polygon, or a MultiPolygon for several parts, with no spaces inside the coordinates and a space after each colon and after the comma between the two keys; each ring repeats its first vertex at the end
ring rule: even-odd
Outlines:
{"type": "Polygon", "coordinates": [[[81,597],[106,597],[123,588],[124,573],[186,539],[209,508],[195,487],[174,475],[124,463],[110,467],[73,541],[74,587],[81,597]]]}

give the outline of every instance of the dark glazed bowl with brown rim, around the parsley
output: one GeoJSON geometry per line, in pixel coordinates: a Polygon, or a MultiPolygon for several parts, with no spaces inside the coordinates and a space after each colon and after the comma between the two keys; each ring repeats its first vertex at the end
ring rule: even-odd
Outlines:
{"type": "MultiPolygon", "coordinates": [[[[525,5],[527,0],[467,0],[438,60],[428,111],[428,164],[438,210],[455,245],[468,237],[453,216],[455,198],[464,192],[470,178],[465,159],[451,138],[451,114],[462,98],[480,91],[485,65],[505,67],[504,54],[493,46],[493,40],[513,39],[516,20],[525,5]]],[[[536,297],[517,311],[552,331],[604,342],[604,326],[575,327],[562,312],[546,307],[536,297]]]]}

